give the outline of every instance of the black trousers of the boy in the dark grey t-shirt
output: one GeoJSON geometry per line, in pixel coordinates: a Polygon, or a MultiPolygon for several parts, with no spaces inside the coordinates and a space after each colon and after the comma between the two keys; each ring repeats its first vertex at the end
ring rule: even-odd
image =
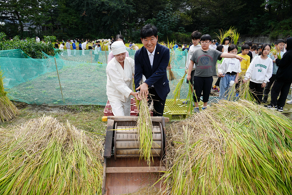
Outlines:
{"type": "Polygon", "coordinates": [[[203,102],[209,101],[213,77],[195,77],[194,79],[194,102],[200,102],[203,92],[203,102]]]}

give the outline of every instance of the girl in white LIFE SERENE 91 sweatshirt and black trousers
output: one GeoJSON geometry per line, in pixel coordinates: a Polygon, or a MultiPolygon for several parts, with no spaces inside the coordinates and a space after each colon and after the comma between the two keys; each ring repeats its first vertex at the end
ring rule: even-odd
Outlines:
{"type": "Polygon", "coordinates": [[[243,80],[246,83],[250,78],[249,89],[258,104],[262,102],[264,88],[273,73],[273,61],[268,57],[270,50],[271,45],[268,43],[261,46],[259,55],[251,61],[243,80]]]}

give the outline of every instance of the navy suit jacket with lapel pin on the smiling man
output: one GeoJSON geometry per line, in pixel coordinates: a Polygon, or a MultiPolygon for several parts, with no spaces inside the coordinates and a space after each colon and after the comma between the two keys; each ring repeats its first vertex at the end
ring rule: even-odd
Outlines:
{"type": "Polygon", "coordinates": [[[140,86],[142,75],[146,77],[145,83],[149,87],[154,86],[158,96],[165,100],[170,92],[166,68],[169,62],[169,49],[166,46],[156,44],[153,66],[151,68],[147,49],[143,46],[135,53],[135,88],[140,86]]]}

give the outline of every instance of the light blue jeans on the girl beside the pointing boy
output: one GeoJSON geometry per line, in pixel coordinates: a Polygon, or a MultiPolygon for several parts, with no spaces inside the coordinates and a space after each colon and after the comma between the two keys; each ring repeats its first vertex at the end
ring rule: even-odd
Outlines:
{"type": "Polygon", "coordinates": [[[230,75],[230,74],[225,74],[225,77],[221,77],[220,80],[220,91],[219,91],[219,100],[222,99],[227,99],[228,96],[229,97],[229,101],[231,101],[233,99],[233,95],[229,92],[230,89],[230,81],[234,81],[235,80],[236,75],[230,75]],[[229,93],[229,94],[228,94],[229,93]]]}

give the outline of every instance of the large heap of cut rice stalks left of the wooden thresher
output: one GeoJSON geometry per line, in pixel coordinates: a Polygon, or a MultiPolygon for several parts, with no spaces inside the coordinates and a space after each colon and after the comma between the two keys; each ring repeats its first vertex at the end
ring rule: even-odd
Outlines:
{"type": "Polygon", "coordinates": [[[100,194],[99,137],[51,116],[1,130],[0,194],[100,194]]]}

